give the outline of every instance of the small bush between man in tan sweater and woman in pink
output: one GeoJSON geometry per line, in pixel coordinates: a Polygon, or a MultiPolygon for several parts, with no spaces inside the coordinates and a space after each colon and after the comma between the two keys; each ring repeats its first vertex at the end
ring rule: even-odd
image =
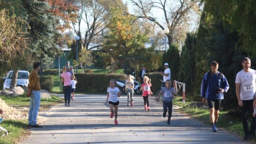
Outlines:
{"type": "Polygon", "coordinates": [[[51,92],[54,86],[54,78],[51,76],[43,76],[39,78],[41,90],[51,92]]]}

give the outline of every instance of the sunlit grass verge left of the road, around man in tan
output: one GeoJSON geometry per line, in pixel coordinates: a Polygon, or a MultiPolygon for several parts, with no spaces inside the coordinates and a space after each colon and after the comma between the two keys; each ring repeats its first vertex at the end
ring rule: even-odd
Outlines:
{"type": "MultiPolygon", "coordinates": [[[[51,96],[52,99],[41,99],[40,108],[49,108],[50,106],[62,103],[63,99],[57,96],[51,96]]],[[[18,97],[7,97],[7,96],[0,96],[2,100],[9,106],[14,107],[29,107],[30,106],[30,98],[27,98],[25,95],[21,95],[18,97]]],[[[3,109],[4,110],[4,109],[3,109]]],[[[4,119],[1,122],[0,126],[4,127],[9,135],[2,137],[1,135],[4,134],[0,131],[0,144],[15,144],[17,140],[26,133],[27,126],[27,119],[25,120],[9,120],[4,119]]]]}

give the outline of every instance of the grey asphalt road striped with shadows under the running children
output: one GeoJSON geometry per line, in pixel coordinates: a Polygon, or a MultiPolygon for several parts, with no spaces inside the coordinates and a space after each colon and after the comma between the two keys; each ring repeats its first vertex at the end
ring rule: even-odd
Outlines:
{"type": "Polygon", "coordinates": [[[29,129],[31,134],[19,144],[248,144],[225,129],[213,133],[210,125],[179,113],[175,107],[171,125],[167,125],[162,104],[153,97],[147,112],[142,96],[135,95],[134,107],[127,107],[127,96],[122,95],[116,126],[106,97],[76,95],[71,107],[60,104],[41,111],[43,128],[29,129]]]}

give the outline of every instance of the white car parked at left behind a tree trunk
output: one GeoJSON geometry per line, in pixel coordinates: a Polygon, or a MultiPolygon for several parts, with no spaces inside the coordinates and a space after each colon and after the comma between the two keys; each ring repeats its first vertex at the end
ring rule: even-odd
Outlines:
{"type": "MultiPolygon", "coordinates": [[[[24,85],[28,85],[28,71],[18,71],[18,80],[17,80],[17,86],[23,87],[24,85]]],[[[5,79],[3,90],[9,90],[10,89],[10,83],[11,83],[11,77],[12,77],[12,71],[9,71],[6,77],[3,77],[5,79]]]]}

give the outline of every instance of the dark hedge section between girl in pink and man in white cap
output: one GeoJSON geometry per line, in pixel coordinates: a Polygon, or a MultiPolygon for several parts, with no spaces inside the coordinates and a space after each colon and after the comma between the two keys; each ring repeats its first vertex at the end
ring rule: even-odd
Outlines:
{"type": "Polygon", "coordinates": [[[162,82],[159,80],[163,81],[163,77],[159,75],[157,72],[146,73],[145,76],[151,79],[152,87],[150,89],[154,94],[156,94],[156,92],[160,90],[162,85],[162,82]]]}

